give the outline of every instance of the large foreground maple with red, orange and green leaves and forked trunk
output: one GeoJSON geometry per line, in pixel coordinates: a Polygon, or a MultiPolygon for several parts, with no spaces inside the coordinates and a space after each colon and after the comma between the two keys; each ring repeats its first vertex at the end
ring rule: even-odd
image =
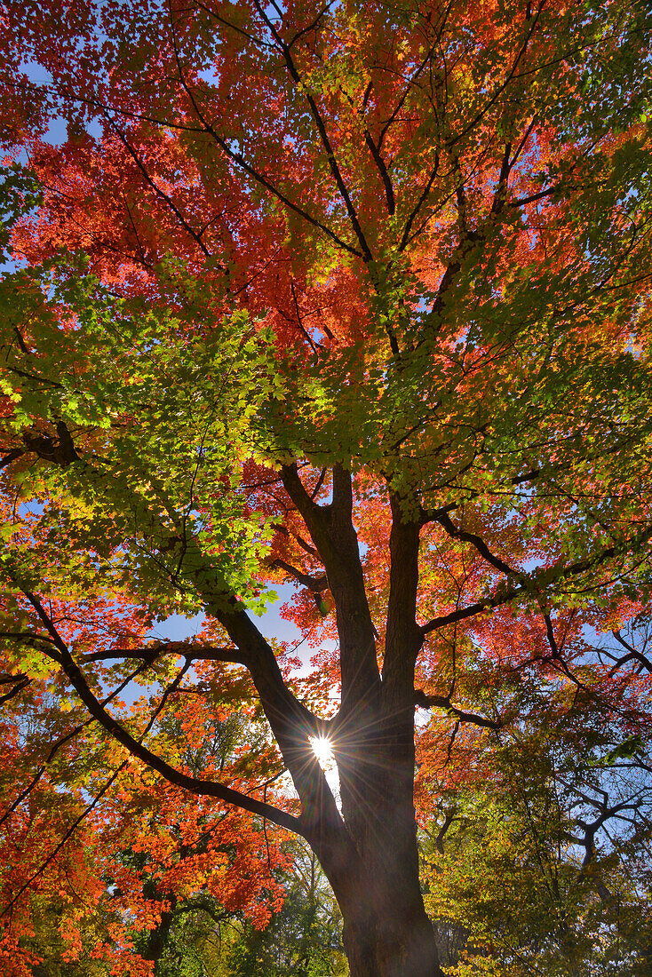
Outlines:
{"type": "Polygon", "coordinates": [[[650,587],[647,5],[5,23],[7,142],[42,194],[2,296],[6,701],[50,685],[157,777],[305,838],[353,977],[439,975],[415,707],[460,790],[559,690],[619,743],[649,731],[618,637],[650,587]],[[279,579],[312,683],[252,617],[279,579]],[[197,611],[203,639],[152,641],[197,611]],[[149,720],[111,711],[112,661],[152,676],[149,720]],[[247,670],[295,798],[157,741],[198,662],[247,670]]]}

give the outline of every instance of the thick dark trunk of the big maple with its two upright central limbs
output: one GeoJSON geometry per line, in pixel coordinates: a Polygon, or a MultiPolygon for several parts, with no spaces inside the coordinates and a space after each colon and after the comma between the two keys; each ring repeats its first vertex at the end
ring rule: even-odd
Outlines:
{"type": "MultiPolygon", "coordinates": [[[[381,679],[354,527],[351,473],[333,466],[327,506],[308,494],[296,465],[283,468],[283,485],[324,561],[341,670],[340,708],[329,735],[342,817],[326,810],[323,796],[314,794],[313,800],[306,792],[301,797],[304,837],[339,903],[351,977],[442,977],[419,887],[413,807],[414,663],[423,642],[416,625],[420,523],[411,521],[402,500],[392,496],[381,679]]],[[[292,759],[288,753],[290,769],[292,759]]],[[[305,748],[303,756],[297,752],[297,767],[299,775],[307,769],[305,748]]]]}

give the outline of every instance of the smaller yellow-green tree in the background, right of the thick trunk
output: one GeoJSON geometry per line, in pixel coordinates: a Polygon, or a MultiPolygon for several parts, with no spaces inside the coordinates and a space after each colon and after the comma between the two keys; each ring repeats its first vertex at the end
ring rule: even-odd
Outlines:
{"type": "Polygon", "coordinates": [[[614,747],[595,701],[569,710],[557,696],[535,724],[524,709],[518,727],[495,731],[465,785],[430,771],[425,901],[456,977],[649,970],[649,755],[631,740],[614,747]]]}

